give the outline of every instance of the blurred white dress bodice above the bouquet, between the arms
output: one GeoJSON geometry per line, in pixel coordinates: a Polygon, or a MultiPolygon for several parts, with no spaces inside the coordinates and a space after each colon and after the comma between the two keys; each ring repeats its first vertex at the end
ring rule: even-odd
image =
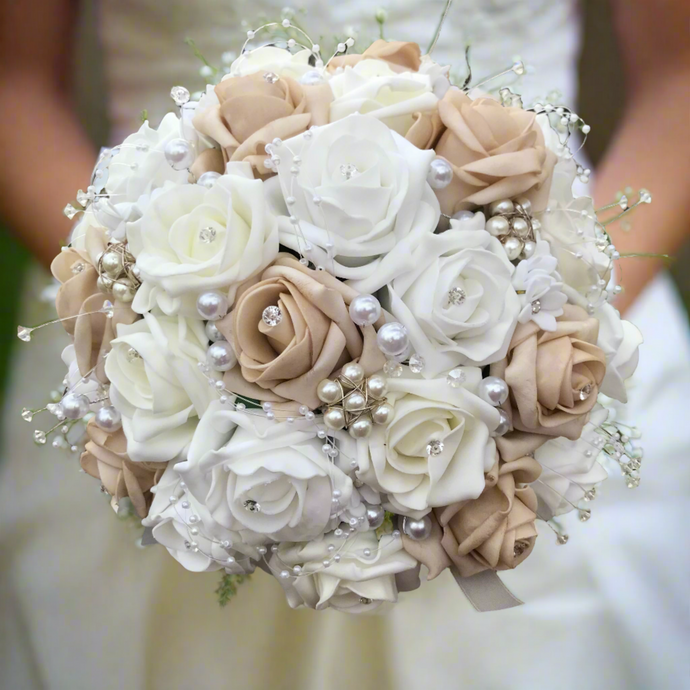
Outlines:
{"type": "MultiPolygon", "coordinates": [[[[444,0],[390,3],[386,37],[414,40],[425,50],[443,6],[444,0]]],[[[219,65],[224,51],[239,49],[248,28],[279,19],[283,7],[284,0],[101,0],[113,140],[129,134],[144,109],[152,122],[160,120],[172,107],[168,94],[173,85],[191,91],[203,86],[201,63],[185,38],[194,39],[204,56],[219,65]]],[[[363,41],[377,38],[375,7],[364,0],[295,5],[297,21],[315,41],[353,31],[363,41]]],[[[455,0],[433,55],[463,74],[469,42],[476,78],[520,56],[530,68],[520,89],[528,100],[558,89],[574,103],[580,34],[575,10],[575,0],[455,0]]]]}

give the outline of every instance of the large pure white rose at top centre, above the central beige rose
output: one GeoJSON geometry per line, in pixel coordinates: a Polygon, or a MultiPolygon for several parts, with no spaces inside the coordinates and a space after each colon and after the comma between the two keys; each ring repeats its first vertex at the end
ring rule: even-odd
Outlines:
{"type": "Polygon", "coordinates": [[[422,151],[375,117],[351,115],[273,149],[268,181],[294,200],[278,219],[281,244],[359,292],[371,293],[409,268],[410,251],[440,216],[426,181],[433,151],[422,151]],[[293,157],[302,160],[293,175],[293,157]],[[296,221],[299,220],[299,223],[296,221]]]}

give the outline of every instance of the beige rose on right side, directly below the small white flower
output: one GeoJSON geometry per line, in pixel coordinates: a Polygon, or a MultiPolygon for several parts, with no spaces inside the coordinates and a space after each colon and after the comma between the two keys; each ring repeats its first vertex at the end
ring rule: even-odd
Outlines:
{"type": "MultiPolygon", "coordinates": [[[[566,304],[555,331],[542,331],[534,321],[519,324],[506,358],[491,365],[491,375],[510,387],[504,408],[513,428],[537,435],[535,447],[552,436],[580,437],[606,372],[606,357],[596,345],[598,332],[596,319],[566,304]]],[[[498,439],[502,454],[510,437],[498,439]]],[[[512,459],[510,455],[504,458],[512,459]]]]}

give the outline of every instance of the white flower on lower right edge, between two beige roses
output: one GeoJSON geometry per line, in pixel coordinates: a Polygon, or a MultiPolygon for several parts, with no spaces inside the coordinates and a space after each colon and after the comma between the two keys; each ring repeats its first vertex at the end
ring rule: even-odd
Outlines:
{"type": "MultiPolygon", "coordinates": [[[[575,510],[586,491],[608,478],[597,460],[600,451],[594,445],[595,440],[601,439],[597,428],[608,416],[608,410],[597,404],[579,439],[554,438],[534,451],[534,459],[541,465],[542,473],[539,481],[532,484],[532,489],[550,515],[563,515],[575,510]]],[[[546,511],[540,512],[544,516],[546,511]]]]}

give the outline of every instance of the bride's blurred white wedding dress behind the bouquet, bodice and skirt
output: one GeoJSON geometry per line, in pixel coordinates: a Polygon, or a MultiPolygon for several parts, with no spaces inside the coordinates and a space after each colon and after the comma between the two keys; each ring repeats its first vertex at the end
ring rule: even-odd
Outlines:
{"type": "MultiPolygon", "coordinates": [[[[311,3],[300,21],[316,35],[376,36],[365,2],[311,3]]],[[[403,0],[386,35],[429,40],[443,2],[403,0]]],[[[218,61],[237,48],[269,2],[106,0],[101,37],[114,140],[166,112],[174,84],[199,83],[183,39],[218,61]],[[249,21],[249,27],[240,20],[249,21]]],[[[579,24],[569,0],[458,0],[434,53],[463,64],[473,45],[478,77],[517,55],[533,67],[523,92],[559,89],[575,103],[579,24]]],[[[628,270],[632,270],[632,267],[628,270]]],[[[33,304],[27,322],[41,320],[33,304]]],[[[688,682],[690,338],[666,276],[630,318],[645,334],[629,415],[646,455],[637,492],[612,477],[586,525],[569,524],[558,546],[542,529],[538,547],[502,574],[522,607],[475,613],[449,573],[403,595],[385,615],[292,611],[277,582],[257,573],[220,609],[214,575],[185,571],[164,549],[135,546],[97,484],[76,460],[39,451],[18,410],[45,398],[66,338],[56,328],[21,350],[4,419],[0,475],[3,687],[158,690],[243,688],[407,690],[680,688],[688,682]]]]}

